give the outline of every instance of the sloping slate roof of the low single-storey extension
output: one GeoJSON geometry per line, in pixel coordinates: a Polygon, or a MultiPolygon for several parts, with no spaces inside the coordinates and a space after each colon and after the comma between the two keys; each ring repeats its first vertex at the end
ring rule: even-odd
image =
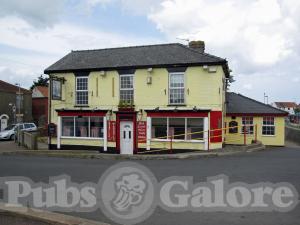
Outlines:
{"type": "Polygon", "coordinates": [[[227,114],[288,114],[281,109],[234,92],[226,93],[226,106],[227,114]]]}

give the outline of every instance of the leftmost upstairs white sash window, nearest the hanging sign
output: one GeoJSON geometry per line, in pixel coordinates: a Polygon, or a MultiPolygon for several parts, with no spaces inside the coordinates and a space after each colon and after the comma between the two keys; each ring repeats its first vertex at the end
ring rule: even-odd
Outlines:
{"type": "Polygon", "coordinates": [[[76,77],[76,105],[88,105],[88,77],[76,77]]]}

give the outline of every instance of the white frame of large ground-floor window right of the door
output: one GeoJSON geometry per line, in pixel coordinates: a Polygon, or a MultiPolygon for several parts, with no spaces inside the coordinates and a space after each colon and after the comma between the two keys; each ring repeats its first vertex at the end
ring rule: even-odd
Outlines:
{"type": "MultiPolygon", "coordinates": [[[[167,135],[169,135],[169,119],[170,118],[180,118],[180,119],[184,119],[184,139],[172,139],[173,142],[197,142],[197,143],[204,143],[205,142],[205,118],[207,117],[150,117],[151,118],[151,126],[150,126],[150,130],[152,129],[152,120],[155,118],[166,118],[167,119],[167,135]],[[187,120],[188,119],[203,119],[203,139],[202,140],[187,140],[187,120]]],[[[152,138],[152,134],[150,133],[150,140],[151,141],[161,141],[161,142],[166,142],[166,141],[170,141],[170,138],[167,139],[159,139],[159,138],[152,138]]]]}

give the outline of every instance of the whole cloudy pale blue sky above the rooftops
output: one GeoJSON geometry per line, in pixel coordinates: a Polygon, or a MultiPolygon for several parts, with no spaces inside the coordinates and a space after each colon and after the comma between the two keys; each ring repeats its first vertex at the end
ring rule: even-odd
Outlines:
{"type": "Polygon", "coordinates": [[[0,79],[29,88],[71,50],[203,40],[230,91],[300,103],[299,0],[0,0],[0,79]]]}

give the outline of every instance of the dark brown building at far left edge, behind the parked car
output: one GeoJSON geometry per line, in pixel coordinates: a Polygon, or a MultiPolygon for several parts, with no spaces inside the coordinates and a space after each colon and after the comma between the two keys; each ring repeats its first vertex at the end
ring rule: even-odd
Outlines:
{"type": "Polygon", "coordinates": [[[9,124],[32,121],[31,91],[0,80],[1,130],[9,124]]]}

